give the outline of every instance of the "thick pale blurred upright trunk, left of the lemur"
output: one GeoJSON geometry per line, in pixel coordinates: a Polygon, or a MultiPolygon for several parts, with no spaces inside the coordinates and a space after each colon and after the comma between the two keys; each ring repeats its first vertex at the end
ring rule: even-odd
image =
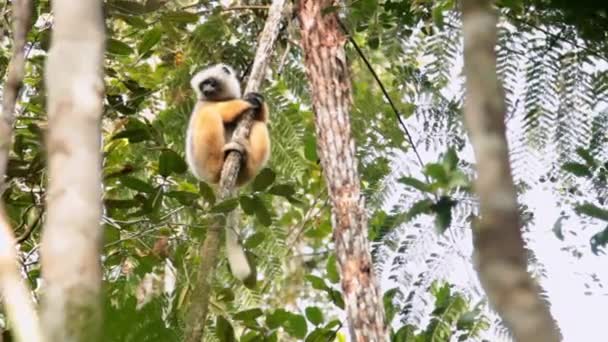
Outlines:
{"type": "Polygon", "coordinates": [[[52,12],[44,75],[49,185],[42,323],[50,341],[95,341],[102,317],[102,1],[54,0],[52,12]]]}

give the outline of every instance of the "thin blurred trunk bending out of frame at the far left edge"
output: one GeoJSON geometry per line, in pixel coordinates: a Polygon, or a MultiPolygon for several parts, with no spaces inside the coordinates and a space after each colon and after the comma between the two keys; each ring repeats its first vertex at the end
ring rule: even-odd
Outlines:
{"type": "MultiPolygon", "coordinates": [[[[30,0],[13,2],[13,55],[4,87],[0,117],[0,198],[4,192],[4,176],[13,136],[15,104],[25,70],[25,43],[31,25],[30,0]]],[[[0,293],[17,341],[42,341],[38,317],[29,287],[17,267],[17,251],[13,228],[0,200],[0,293]]]]}

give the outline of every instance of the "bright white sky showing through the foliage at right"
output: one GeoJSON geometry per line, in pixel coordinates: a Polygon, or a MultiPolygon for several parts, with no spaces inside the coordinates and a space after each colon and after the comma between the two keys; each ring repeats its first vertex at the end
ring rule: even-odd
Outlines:
{"type": "MultiPolygon", "coordinates": [[[[427,61],[421,59],[420,62],[424,64],[427,61]]],[[[522,61],[520,84],[516,87],[519,89],[516,89],[515,94],[520,99],[525,81],[523,76],[525,62],[525,60],[522,61]]],[[[596,67],[607,70],[608,63],[598,62],[596,67]]],[[[462,58],[459,57],[452,71],[452,80],[458,80],[461,77],[461,68],[462,58]]],[[[462,79],[460,78],[460,80],[462,79]]],[[[459,87],[458,82],[452,82],[446,93],[455,94],[459,87]]],[[[512,101],[515,103],[515,98],[512,98],[512,101]]],[[[523,117],[523,101],[519,101],[519,104],[520,106],[516,108],[518,113],[515,119],[507,122],[511,150],[513,150],[513,142],[516,142],[518,139],[521,140],[520,135],[523,134],[522,122],[520,121],[523,117]]],[[[552,110],[554,108],[547,109],[552,110]]],[[[586,113],[590,118],[589,120],[591,120],[591,117],[597,115],[600,111],[608,110],[608,105],[577,109],[586,113]]],[[[407,121],[407,125],[410,128],[410,132],[415,136],[415,140],[420,138],[421,135],[426,134],[421,125],[422,121],[422,119],[416,117],[411,117],[407,121]]],[[[444,152],[442,150],[422,150],[420,147],[422,145],[418,144],[418,148],[424,162],[437,161],[439,153],[444,152]]],[[[522,146],[518,146],[518,148],[520,151],[522,150],[522,146]]],[[[544,146],[543,148],[544,150],[538,151],[530,147],[523,147],[525,156],[518,155],[517,163],[512,164],[513,168],[518,170],[516,176],[524,179],[528,184],[534,184],[534,181],[546,173],[550,165],[555,163],[555,151],[550,150],[551,146],[544,146]]],[[[396,164],[409,163],[409,161],[413,160],[411,151],[408,152],[407,156],[406,160],[408,162],[401,160],[396,164]]],[[[465,151],[460,154],[460,157],[466,161],[474,162],[470,145],[467,145],[465,151]]],[[[404,170],[404,172],[412,176],[419,176],[420,172],[417,170],[419,167],[414,165],[413,162],[411,165],[408,167],[409,170],[404,170]]],[[[598,341],[599,337],[603,335],[604,311],[608,307],[608,291],[601,287],[602,284],[608,283],[608,268],[606,267],[606,257],[604,255],[597,256],[591,253],[589,241],[592,235],[605,228],[606,223],[585,219],[583,224],[581,217],[573,214],[572,204],[558,203],[558,199],[562,198],[562,196],[555,193],[555,189],[551,188],[551,186],[556,184],[549,182],[544,184],[546,187],[536,186],[519,198],[519,201],[527,204],[530,207],[530,211],[534,213],[534,224],[530,227],[530,233],[525,236],[528,248],[536,253],[540,267],[545,270],[546,278],[541,279],[541,284],[549,296],[552,304],[552,314],[562,330],[564,342],[598,341]],[[560,241],[552,231],[555,222],[560,217],[561,211],[565,211],[569,215],[568,219],[562,221],[565,235],[564,241],[560,241]],[[582,255],[580,257],[573,256],[571,250],[566,249],[567,247],[576,247],[576,250],[581,252],[582,255]],[[592,280],[592,275],[595,275],[597,278],[595,282],[592,280]]],[[[389,201],[390,203],[387,205],[387,208],[392,207],[396,203],[398,195],[398,193],[395,194],[394,201],[389,201]]],[[[592,203],[595,202],[593,196],[589,196],[588,199],[580,198],[580,201],[584,200],[589,200],[592,203]]],[[[432,227],[432,221],[428,223],[427,230],[428,227],[432,227]]],[[[412,230],[415,229],[413,224],[409,225],[403,230],[403,234],[407,234],[408,230],[412,233],[412,230]]],[[[444,252],[450,253],[449,257],[443,259],[444,262],[448,263],[445,266],[444,272],[447,277],[446,280],[458,286],[469,288],[473,294],[481,293],[475,271],[468,259],[472,252],[470,234],[465,234],[464,236],[458,234],[451,235],[447,240],[450,240],[451,247],[450,250],[444,249],[444,252]],[[451,249],[455,249],[456,251],[452,251],[451,249]]],[[[421,254],[428,255],[429,251],[424,250],[424,248],[423,246],[421,254]]],[[[416,262],[408,262],[402,268],[405,269],[405,272],[416,275],[417,272],[420,272],[425,267],[425,264],[412,264],[416,264],[416,262]]],[[[391,274],[389,266],[385,266],[384,274],[380,275],[383,290],[388,290],[397,285],[388,279],[388,275],[391,274]]],[[[531,267],[534,268],[534,265],[531,265],[531,267]]],[[[478,299],[475,298],[475,295],[473,297],[474,301],[478,299]]],[[[500,340],[491,335],[486,336],[486,338],[489,338],[493,342],[500,340]]]]}

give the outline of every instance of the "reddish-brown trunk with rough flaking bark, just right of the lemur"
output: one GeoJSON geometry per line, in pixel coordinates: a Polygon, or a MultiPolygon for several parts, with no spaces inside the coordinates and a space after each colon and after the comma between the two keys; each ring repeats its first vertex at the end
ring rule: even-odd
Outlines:
{"type": "Polygon", "coordinates": [[[333,0],[301,0],[300,25],[306,73],[310,81],[317,149],[332,203],[336,256],[341,270],[352,341],[386,341],[384,308],[367,241],[367,217],[361,195],[349,109],[351,84],[344,52],[346,38],[333,0]]]}

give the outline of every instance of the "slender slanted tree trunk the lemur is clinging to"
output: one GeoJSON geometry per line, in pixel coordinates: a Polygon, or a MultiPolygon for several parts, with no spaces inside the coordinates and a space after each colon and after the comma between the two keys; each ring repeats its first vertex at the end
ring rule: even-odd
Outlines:
{"type": "MultiPolygon", "coordinates": [[[[247,86],[245,87],[245,93],[257,91],[262,82],[264,81],[264,75],[270,55],[274,47],[274,43],[279,34],[279,26],[283,12],[285,8],[285,0],[273,0],[270,10],[268,11],[268,18],[264,25],[264,29],[258,42],[258,47],[255,54],[255,60],[251,68],[247,86]]],[[[251,125],[253,123],[253,111],[247,111],[234,131],[235,137],[245,138],[249,136],[251,125]]],[[[225,200],[234,195],[236,178],[241,167],[242,156],[236,151],[230,152],[224,167],[222,169],[222,176],[219,184],[219,196],[220,200],[225,200]]],[[[229,215],[234,215],[231,213],[229,215]]],[[[227,220],[228,222],[234,222],[234,220],[227,220]]],[[[190,300],[190,308],[187,317],[186,326],[186,341],[188,342],[199,342],[205,331],[205,323],[209,313],[209,300],[211,297],[211,280],[215,274],[217,267],[219,246],[220,246],[220,233],[222,232],[222,225],[220,222],[216,222],[207,229],[205,241],[201,247],[200,255],[202,257],[201,266],[198,270],[197,282],[193,289],[192,298],[190,300]]],[[[228,227],[230,229],[230,227],[228,227]]]]}

